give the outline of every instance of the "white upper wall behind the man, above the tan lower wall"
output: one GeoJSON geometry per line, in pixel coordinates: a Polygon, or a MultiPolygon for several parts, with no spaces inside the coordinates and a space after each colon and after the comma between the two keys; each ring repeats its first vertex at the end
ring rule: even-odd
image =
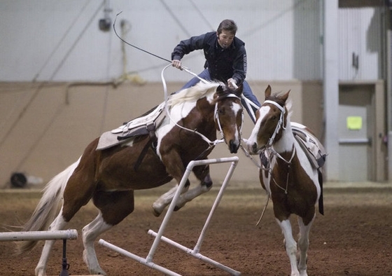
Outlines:
{"type": "MultiPolygon", "coordinates": [[[[216,29],[225,18],[237,22],[246,43],[248,81],[320,79],[318,0],[113,0],[126,20],[125,39],[170,59],[181,39],[216,29]]],[[[123,74],[120,40],[98,29],[104,1],[3,0],[0,4],[0,81],[106,81],[123,74]],[[6,66],[3,66],[6,64],[6,66]]],[[[127,71],[160,81],[167,62],[127,46],[127,71]]],[[[183,60],[196,73],[204,57],[183,60]]],[[[171,69],[167,81],[190,76],[171,69]]]]}

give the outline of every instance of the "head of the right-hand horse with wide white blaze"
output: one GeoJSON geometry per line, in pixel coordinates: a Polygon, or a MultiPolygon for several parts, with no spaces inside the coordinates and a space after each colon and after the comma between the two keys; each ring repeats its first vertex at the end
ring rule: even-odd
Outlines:
{"type": "Polygon", "coordinates": [[[279,141],[287,123],[286,100],[289,93],[290,90],[283,95],[271,95],[271,86],[267,86],[265,102],[256,113],[255,127],[246,142],[249,153],[257,154],[279,141]]]}

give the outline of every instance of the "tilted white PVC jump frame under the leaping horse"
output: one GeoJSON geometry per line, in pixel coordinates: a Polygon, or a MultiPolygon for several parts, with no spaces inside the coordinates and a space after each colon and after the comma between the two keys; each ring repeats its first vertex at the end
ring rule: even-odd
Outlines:
{"type": "Polygon", "coordinates": [[[222,263],[218,263],[217,261],[214,261],[211,258],[208,258],[207,256],[203,256],[200,254],[200,247],[202,246],[202,242],[204,240],[204,235],[206,234],[207,228],[209,227],[209,223],[211,221],[211,217],[213,216],[216,208],[219,205],[219,202],[221,202],[221,198],[223,197],[223,192],[225,191],[226,186],[228,185],[230,178],[232,177],[232,174],[235,170],[235,167],[237,167],[239,158],[237,156],[230,157],[230,158],[216,158],[216,159],[207,159],[207,160],[195,160],[191,161],[188,166],[186,167],[186,172],[183,175],[183,178],[181,179],[181,182],[179,184],[179,188],[176,191],[176,194],[174,195],[174,198],[172,200],[172,203],[169,205],[169,208],[167,209],[167,213],[165,215],[165,218],[163,219],[160,228],[158,230],[158,233],[155,233],[153,230],[148,230],[149,235],[153,235],[155,237],[155,240],[153,244],[151,245],[151,249],[148,253],[148,256],[146,258],[142,258],[140,256],[137,256],[135,254],[132,254],[129,251],[126,251],[125,249],[122,249],[120,247],[116,247],[116,245],[111,244],[109,242],[106,242],[105,240],[99,240],[99,244],[103,245],[104,247],[108,247],[109,249],[112,249],[113,251],[117,251],[120,254],[123,254],[124,256],[127,256],[129,258],[133,258],[135,261],[138,261],[141,264],[144,264],[148,266],[149,268],[153,268],[155,270],[158,270],[160,272],[165,273],[165,275],[179,275],[178,273],[169,270],[167,268],[164,268],[160,265],[157,265],[156,263],[153,263],[153,256],[155,254],[156,249],[158,248],[158,244],[160,240],[167,242],[168,244],[173,245],[174,247],[177,247],[181,249],[182,251],[185,251],[186,253],[190,254],[191,256],[194,256],[195,258],[200,259],[201,261],[204,261],[206,263],[209,263],[211,265],[216,266],[216,268],[219,268],[221,270],[224,270],[226,272],[229,272],[231,275],[241,275],[241,272],[238,272],[237,270],[234,270],[232,268],[229,268],[226,265],[223,265],[222,263]],[[174,207],[176,206],[176,202],[179,199],[179,196],[181,195],[181,191],[183,189],[183,186],[185,186],[186,181],[190,175],[190,173],[193,170],[193,167],[195,166],[200,166],[200,165],[210,165],[210,164],[217,164],[217,163],[231,163],[228,173],[226,174],[225,180],[223,181],[223,184],[218,192],[218,195],[216,195],[216,199],[214,201],[214,204],[211,207],[211,211],[209,213],[209,216],[207,217],[206,222],[204,223],[204,227],[202,229],[202,232],[200,233],[199,240],[197,240],[197,243],[195,245],[194,249],[190,249],[188,247],[184,247],[183,245],[174,242],[173,240],[168,239],[167,237],[163,236],[163,233],[165,232],[165,228],[167,226],[167,223],[169,222],[170,217],[172,216],[172,213],[174,211],[174,207]]]}

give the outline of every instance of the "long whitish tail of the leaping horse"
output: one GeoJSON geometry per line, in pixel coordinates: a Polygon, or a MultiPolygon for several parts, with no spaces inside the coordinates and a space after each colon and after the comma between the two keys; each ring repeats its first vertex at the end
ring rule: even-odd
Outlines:
{"type": "MultiPolygon", "coordinates": [[[[22,231],[41,231],[47,230],[50,223],[55,220],[62,206],[63,193],[69,177],[78,166],[80,159],[67,167],[64,171],[53,177],[45,188],[43,188],[43,196],[38,202],[31,218],[22,226],[22,231]]],[[[26,240],[18,244],[18,254],[31,251],[38,240],[26,240]]]]}

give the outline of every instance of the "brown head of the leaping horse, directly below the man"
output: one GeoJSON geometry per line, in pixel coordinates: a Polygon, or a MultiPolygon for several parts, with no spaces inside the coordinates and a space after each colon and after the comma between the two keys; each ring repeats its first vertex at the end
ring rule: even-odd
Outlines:
{"type": "Polygon", "coordinates": [[[221,132],[230,153],[237,153],[241,143],[241,128],[244,112],[241,104],[242,86],[236,90],[219,85],[214,95],[215,125],[221,132]]]}

